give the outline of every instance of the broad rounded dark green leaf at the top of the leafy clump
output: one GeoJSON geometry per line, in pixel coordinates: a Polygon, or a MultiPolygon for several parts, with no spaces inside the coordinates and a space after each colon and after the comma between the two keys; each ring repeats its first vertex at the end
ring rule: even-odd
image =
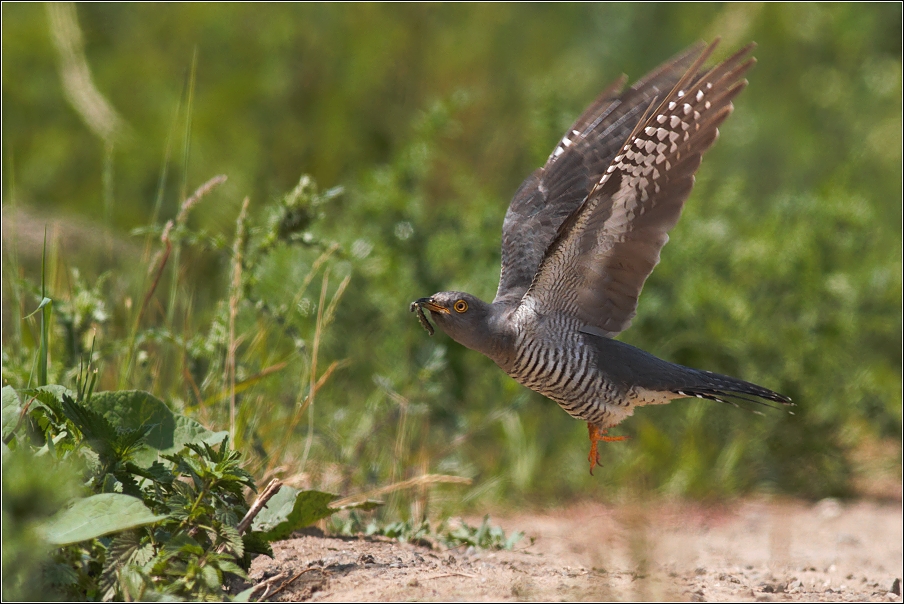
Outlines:
{"type": "Polygon", "coordinates": [[[228,434],[176,415],[163,401],[140,390],[98,392],[91,397],[91,407],[121,430],[152,426],[144,446],[133,455],[139,466],[150,466],[159,455],[178,453],[188,443],[218,444],[228,434]]]}

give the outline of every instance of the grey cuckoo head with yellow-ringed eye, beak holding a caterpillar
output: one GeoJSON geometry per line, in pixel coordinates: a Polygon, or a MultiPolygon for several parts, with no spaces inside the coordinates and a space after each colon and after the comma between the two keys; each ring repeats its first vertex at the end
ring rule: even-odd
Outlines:
{"type": "Polygon", "coordinates": [[[429,298],[415,300],[411,303],[411,310],[418,313],[421,324],[432,335],[424,309],[430,311],[430,318],[453,340],[487,354],[492,338],[491,304],[464,292],[439,292],[429,298]]]}

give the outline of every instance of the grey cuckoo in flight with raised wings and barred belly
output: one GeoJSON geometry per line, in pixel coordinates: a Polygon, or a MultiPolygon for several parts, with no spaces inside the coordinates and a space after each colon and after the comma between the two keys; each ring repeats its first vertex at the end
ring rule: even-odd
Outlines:
{"type": "MultiPolygon", "coordinates": [[[[590,469],[606,431],[639,405],[698,397],[789,404],[733,377],[663,361],[614,340],[659,263],[703,153],[744,89],[753,45],[709,70],[697,44],[628,90],[614,82],[515,193],[492,303],[440,292],[411,305],[452,339],[588,423],[590,469]]],[[[768,404],[768,403],[765,403],[768,404]]]]}

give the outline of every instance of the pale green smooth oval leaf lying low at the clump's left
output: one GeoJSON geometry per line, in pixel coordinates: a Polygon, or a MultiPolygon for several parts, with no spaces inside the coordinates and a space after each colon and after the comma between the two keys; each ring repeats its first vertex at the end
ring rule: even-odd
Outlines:
{"type": "Polygon", "coordinates": [[[119,493],[102,493],[79,499],[42,527],[49,543],[69,545],[110,533],[165,520],[149,510],[140,499],[119,493]]]}

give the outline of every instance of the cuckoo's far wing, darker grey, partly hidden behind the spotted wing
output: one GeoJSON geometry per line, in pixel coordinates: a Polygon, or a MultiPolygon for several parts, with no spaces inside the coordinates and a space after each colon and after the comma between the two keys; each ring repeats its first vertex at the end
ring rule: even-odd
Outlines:
{"type": "Polygon", "coordinates": [[[496,302],[517,304],[559,227],[581,205],[654,98],[668,94],[701,51],[696,44],[621,93],[622,76],[572,124],[546,164],[522,183],[502,226],[496,302]]]}

